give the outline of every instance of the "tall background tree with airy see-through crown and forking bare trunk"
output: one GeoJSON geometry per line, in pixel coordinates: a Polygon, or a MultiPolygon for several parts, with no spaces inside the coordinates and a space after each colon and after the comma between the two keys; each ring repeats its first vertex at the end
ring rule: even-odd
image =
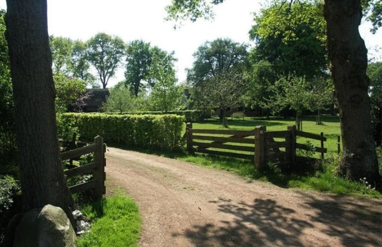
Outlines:
{"type": "Polygon", "coordinates": [[[87,59],[97,70],[102,87],[106,88],[125,55],[125,43],[120,37],[97,33],[87,41],[87,47],[87,59]]]}

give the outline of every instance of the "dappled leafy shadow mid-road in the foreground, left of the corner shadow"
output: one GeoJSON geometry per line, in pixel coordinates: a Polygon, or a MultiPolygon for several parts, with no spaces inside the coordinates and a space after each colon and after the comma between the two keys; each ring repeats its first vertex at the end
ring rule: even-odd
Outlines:
{"type": "Polygon", "coordinates": [[[234,216],[219,226],[194,225],[185,235],[195,246],[303,246],[298,236],[309,222],[290,217],[294,210],[274,200],[255,199],[252,204],[219,199],[219,212],[234,216]]]}

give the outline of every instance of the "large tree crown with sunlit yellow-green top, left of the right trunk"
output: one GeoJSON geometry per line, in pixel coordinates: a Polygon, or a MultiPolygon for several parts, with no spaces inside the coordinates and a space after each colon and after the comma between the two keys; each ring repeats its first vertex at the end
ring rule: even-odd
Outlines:
{"type": "Polygon", "coordinates": [[[256,47],[252,60],[268,61],[279,75],[295,74],[306,79],[328,70],[325,20],[322,3],[273,2],[255,14],[249,31],[256,47]]]}

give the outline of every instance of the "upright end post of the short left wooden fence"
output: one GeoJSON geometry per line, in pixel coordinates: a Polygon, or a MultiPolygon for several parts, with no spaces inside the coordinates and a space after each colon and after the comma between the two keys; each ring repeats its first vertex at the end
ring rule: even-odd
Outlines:
{"type": "Polygon", "coordinates": [[[104,178],[104,153],[103,153],[103,138],[99,135],[94,137],[96,151],[94,152],[94,162],[97,163],[97,169],[93,171],[93,179],[96,180],[97,186],[94,188],[94,200],[101,200],[103,194],[103,178],[104,178]]]}

